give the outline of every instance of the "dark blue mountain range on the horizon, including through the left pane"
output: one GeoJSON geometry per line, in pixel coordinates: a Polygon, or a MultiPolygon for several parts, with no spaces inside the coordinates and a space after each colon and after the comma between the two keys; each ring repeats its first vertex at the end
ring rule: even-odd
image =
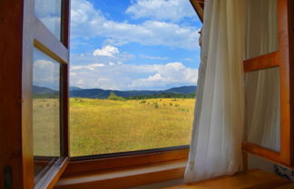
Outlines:
{"type": "MultiPolygon", "coordinates": [[[[142,95],[155,94],[191,94],[195,93],[197,86],[182,86],[171,88],[168,90],[102,90],[102,89],[81,89],[78,87],[70,87],[70,97],[89,98],[89,99],[107,99],[113,91],[115,95],[120,97],[132,97],[142,95]]],[[[57,94],[57,90],[45,87],[33,86],[34,94],[57,94]]]]}

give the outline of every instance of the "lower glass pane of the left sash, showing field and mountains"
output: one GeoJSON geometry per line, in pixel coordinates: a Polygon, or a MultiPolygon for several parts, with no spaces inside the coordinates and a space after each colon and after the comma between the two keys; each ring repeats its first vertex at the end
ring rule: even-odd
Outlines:
{"type": "Polygon", "coordinates": [[[34,49],[34,175],[40,177],[60,153],[60,64],[34,49]]]}

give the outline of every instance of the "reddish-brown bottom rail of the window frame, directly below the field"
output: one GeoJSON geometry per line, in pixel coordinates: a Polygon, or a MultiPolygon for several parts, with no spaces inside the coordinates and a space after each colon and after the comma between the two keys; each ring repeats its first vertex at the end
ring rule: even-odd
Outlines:
{"type": "MultiPolygon", "coordinates": [[[[166,162],[188,160],[189,148],[158,151],[140,155],[114,156],[104,158],[71,159],[63,177],[93,175],[130,167],[165,164],[166,162]]],[[[90,156],[91,157],[91,156],[90,156]]]]}

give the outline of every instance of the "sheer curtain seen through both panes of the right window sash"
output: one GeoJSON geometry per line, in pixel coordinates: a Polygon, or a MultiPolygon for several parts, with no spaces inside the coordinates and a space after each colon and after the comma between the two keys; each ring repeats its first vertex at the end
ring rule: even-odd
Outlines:
{"type": "MultiPolygon", "coordinates": [[[[279,49],[277,11],[277,0],[248,0],[245,59],[279,49]]],[[[245,81],[245,139],[279,152],[279,68],[248,72],[245,81]]]]}

